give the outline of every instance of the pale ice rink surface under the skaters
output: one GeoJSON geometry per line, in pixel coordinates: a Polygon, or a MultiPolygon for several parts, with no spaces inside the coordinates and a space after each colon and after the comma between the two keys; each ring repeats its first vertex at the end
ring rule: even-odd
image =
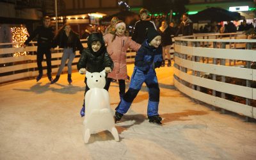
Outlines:
{"type": "MultiPolygon", "coordinates": [[[[128,65],[129,76],[133,65],[128,65]]],[[[163,125],[147,119],[147,88],[110,132],[93,134],[84,144],[84,75],[67,74],[56,84],[47,77],[0,86],[0,159],[255,159],[256,123],[234,113],[221,114],[175,90],[173,67],[156,70],[163,125]]],[[[54,76],[55,77],[55,76],[54,76]]],[[[127,88],[129,81],[126,81],[127,88]]],[[[117,83],[109,95],[114,110],[120,101],[117,83]]]]}

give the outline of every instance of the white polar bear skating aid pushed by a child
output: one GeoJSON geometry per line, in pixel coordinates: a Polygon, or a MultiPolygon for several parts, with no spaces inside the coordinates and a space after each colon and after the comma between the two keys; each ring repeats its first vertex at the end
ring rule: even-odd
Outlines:
{"type": "Polygon", "coordinates": [[[84,97],[85,113],[83,138],[88,143],[90,135],[108,130],[119,141],[118,132],[115,128],[113,112],[110,108],[109,93],[104,89],[106,84],[105,70],[90,73],[86,71],[87,85],[90,88],[84,97]]]}

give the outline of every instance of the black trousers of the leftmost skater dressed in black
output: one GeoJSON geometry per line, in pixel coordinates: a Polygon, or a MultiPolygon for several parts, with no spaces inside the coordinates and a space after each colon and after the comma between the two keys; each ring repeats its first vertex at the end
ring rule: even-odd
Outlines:
{"type": "Polygon", "coordinates": [[[47,74],[51,74],[52,72],[52,54],[51,49],[48,47],[38,47],[37,53],[36,53],[36,62],[37,62],[37,68],[39,74],[43,74],[43,67],[42,67],[42,61],[44,60],[44,54],[46,57],[46,63],[47,63],[47,74]]]}

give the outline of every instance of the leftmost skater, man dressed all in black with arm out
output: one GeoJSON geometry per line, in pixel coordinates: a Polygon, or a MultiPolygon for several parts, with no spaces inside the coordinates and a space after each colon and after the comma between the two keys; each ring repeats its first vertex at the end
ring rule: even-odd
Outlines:
{"type": "Polygon", "coordinates": [[[47,76],[49,81],[52,81],[52,67],[51,67],[51,46],[52,46],[52,39],[54,37],[54,30],[51,28],[51,19],[48,16],[44,17],[44,25],[38,26],[35,31],[28,37],[28,40],[24,42],[24,47],[29,44],[29,42],[35,38],[37,38],[37,52],[36,52],[36,61],[38,67],[38,76],[36,77],[36,82],[39,81],[43,76],[43,67],[42,61],[44,60],[44,54],[46,57],[47,63],[47,76]]]}

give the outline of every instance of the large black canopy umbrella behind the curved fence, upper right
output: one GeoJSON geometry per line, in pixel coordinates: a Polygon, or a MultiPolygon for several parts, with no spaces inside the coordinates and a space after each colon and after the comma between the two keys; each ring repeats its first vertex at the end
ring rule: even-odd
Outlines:
{"type": "Polygon", "coordinates": [[[244,19],[240,13],[237,12],[230,12],[228,10],[224,10],[223,8],[207,8],[206,10],[202,10],[195,15],[190,15],[190,19],[193,22],[198,21],[207,21],[211,20],[211,22],[221,22],[221,21],[228,21],[228,20],[241,20],[244,19]]]}

